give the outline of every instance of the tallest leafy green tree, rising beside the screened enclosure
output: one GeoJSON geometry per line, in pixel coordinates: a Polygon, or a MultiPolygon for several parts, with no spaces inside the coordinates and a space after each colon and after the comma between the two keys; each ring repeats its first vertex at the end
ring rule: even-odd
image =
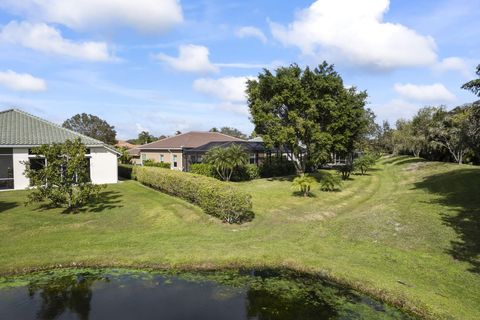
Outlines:
{"type": "Polygon", "coordinates": [[[247,82],[255,132],[295,162],[297,171],[326,163],[332,152],[348,154],[366,126],[366,92],[346,89],[332,65],[265,69],[247,82]]]}

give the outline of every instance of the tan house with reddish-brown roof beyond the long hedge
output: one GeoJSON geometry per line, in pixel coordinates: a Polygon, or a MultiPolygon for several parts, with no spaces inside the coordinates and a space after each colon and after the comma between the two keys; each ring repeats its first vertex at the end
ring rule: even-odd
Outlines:
{"type": "Polygon", "coordinates": [[[138,146],[128,152],[135,164],[145,160],[170,163],[175,170],[188,171],[193,163],[202,162],[203,156],[214,147],[238,144],[244,147],[251,163],[257,163],[265,153],[263,142],[247,141],[219,132],[191,131],[138,146]]]}

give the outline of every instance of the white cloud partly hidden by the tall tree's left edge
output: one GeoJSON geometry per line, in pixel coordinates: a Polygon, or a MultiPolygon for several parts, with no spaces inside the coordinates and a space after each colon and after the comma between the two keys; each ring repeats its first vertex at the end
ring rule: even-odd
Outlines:
{"type": "Polygon", "coordinates": [[[193,82],[193,89],[222,101],[244,102],[247,80],[253,77],[201,78],[193,82]]]}

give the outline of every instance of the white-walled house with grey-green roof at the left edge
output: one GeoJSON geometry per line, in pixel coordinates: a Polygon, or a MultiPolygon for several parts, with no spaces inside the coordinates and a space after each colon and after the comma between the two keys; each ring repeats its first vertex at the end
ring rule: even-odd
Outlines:
{"type": "MultiPolygon", "coordinates": [[[[113,147],[21,110],[1,111],[0,189],[25,189],[30,186],[24,175],[24,162],[36,157],[32,155],[31,148],[77,138],[88,150],[86,156],[90,164],[91,181],[95,184],[116,183],[119,153],[113,147]]],[[[36,159],[35,165],[42,160],[36,159]]]]}

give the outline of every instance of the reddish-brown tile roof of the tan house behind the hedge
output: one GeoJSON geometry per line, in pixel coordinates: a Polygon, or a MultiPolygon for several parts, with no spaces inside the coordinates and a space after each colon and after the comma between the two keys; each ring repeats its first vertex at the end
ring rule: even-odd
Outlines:
{"type": "Polygon", "coordinates": [[[148,149],[196,148],[209,142],[245,141],[219,132],[190,131],[137,147],[148,149]]]}

